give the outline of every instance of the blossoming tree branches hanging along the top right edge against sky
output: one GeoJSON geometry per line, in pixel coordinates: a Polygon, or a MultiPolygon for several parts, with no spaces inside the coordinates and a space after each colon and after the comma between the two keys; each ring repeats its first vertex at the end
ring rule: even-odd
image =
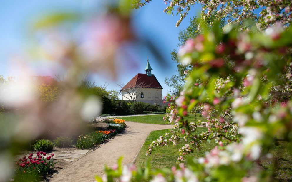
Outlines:
{"type": "MultiPolygon", "coordinates": [[[[145,6],[151,0],[133,0],[132,8],[138,9],[145,6]]],[[[185,0],[164,0],[167,7],[164,12],[167,14],[174,14],[177,11],[177,15],[180,15],[180,19],[177,21],[178,27],[181,21],[187,16],[191,7],[194,5],[202,6],[201,17],[205,21],[211,14],[215,14],[215,18],[220,20],[226,18],[228,23],[239,23],[243,25],[246,19],[254,19],[257,23],[257,27],[265,29],[276,22],[281,22],[284,26],[289,26],[292,22],[291,10],[292,2],[290,0],[281,1],[185,1],[185,0]],[[257,13],[260,11],[260,13],[257,13]]],[[[214,21],[211,22],[211,24],[214,21]]],[[[248,28],[241,26],[241,28],[248,28]]]]}

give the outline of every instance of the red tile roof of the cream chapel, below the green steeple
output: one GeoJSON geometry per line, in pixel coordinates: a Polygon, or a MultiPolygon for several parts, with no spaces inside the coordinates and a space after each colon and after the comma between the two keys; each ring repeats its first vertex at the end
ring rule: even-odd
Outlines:
{"type": "Polygon", "coordinates": [[[152,74],[148,76],[147,74],[138,73],[130,82],[128,82],[121,90],[134,88],[134,87],[144,87],[144,88],[161,88],[162,86],[152,74]]]}

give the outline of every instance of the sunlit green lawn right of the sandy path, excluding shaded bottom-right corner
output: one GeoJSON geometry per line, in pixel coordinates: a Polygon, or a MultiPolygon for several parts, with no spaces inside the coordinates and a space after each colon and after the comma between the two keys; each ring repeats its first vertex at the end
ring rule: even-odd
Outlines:
{"type": "MultiPolygon", "coordinates": [[[[164,135],[165,132],[168,132],[169,129],[153,131],[147,137],[144,145],[142,146],[141,150],[139,151],[136,160],[134,163],[137,166],[145,167],[147,164],[147,160],[150,160],[150,164],[152,168],[171,168],[172,166],[176,165],[176,160],[178,157],[178,150],[185,145],[185,142],[181,142],[177,145],[169,145],[169,146],[159,146],[153,149],[152,154],[150,156],[146,156],[146,151],[148,150],[148,146],[150,143],[161,135],[164,135]]],[[[205,132],[207,128],[200,127],[198,128],[198,132],[205,132]]],[[[210,143],[202,144],[202,150],[194,151],[193,153],[189,154],[188,156],[192,156],[195,158],[200,158],[205,156],[206,151],[210,151],[216,146],[214,141],[210,143]]]]}

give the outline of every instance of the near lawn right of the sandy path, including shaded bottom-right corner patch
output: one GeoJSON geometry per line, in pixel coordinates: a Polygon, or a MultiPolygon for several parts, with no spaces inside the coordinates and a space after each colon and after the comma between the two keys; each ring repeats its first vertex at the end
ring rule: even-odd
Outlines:
{"type": "MultiPolygon", "coordinates": [[[[200,127],[198,128],[198,132],[205,132],[207,128],[200,127]]],[[[147,137],[144,145],[139,151],[137,158],[134,163],[137,166],[142,166],[143,168],[147,164],[147,160],[150,161],[150,165],[152,168],[171,168],[176,165],[176,160],[178,157],[178,150],[184,146],[185,142],[181,142],[180,144],[174,146],[158,146],[153,149],[152,154],[150,156],[146,156],[146,151],[150,143],[161,135],[164,135],[165,132],[168,132],[169,129],[153,131],[147,137]]],[[[216,146],[214,141],[210,143],[202,144],[202,150],[194,151],[188,156],[195,157],[196,159],[205,156],[206,151],[210,151],[216,146]]],[[[260,166],[265,170],[271,170],[276,164],[275,169],[275,179],[278,181],[292,181],[292,143],[288,143],[286,141],[280,141],[277,145],[274,145],[269,150],[275,159],[261,159],[260,166]]]]}

